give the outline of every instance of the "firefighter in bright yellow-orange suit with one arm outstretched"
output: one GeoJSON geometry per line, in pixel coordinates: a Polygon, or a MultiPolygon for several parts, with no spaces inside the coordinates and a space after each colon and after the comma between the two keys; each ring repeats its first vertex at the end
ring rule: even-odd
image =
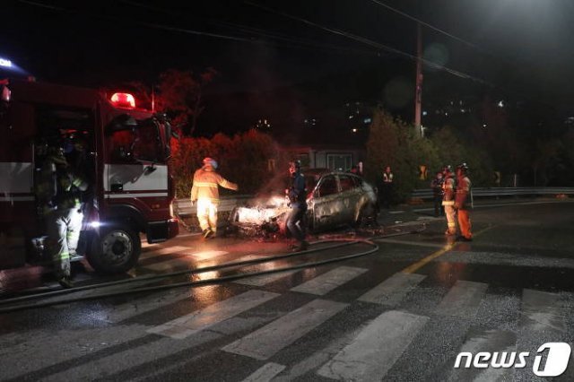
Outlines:
{"type": "Polygon", "coordinates": [[[217,206],[219,204],[219,186],[237,191],[238,185],[223,178],[215,170],[217,161],[204,158],[204,166],[197,169],[191,187],[191,204],[197,201],[197,220],[204,239],[214,238],[217,233],[217,206]]]}

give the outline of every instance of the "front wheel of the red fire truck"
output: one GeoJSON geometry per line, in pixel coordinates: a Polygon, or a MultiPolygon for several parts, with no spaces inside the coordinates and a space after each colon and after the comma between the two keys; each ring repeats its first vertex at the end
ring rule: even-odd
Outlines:
{"type": "Polygon", "coordinates": [[[142,252],[142,243],[134,230],[108,227],[92,241],[88,262],[99,273],[125,273],[136,263],[142,252]]]}

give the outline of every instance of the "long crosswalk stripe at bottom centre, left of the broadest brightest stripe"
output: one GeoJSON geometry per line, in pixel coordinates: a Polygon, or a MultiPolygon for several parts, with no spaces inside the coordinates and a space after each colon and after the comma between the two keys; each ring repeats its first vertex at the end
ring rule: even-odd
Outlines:
{"type": "Polygon", "coordinates": [[[256,360],[267,360],[348,305],[343,302],[312,300],[257,331],[226,345],[222,350],[256,360]]]}

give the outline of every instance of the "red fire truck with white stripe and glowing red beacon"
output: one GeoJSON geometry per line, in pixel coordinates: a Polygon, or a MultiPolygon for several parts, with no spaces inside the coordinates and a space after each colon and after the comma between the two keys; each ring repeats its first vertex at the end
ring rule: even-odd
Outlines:
{"type": "MultiPolygon", "coordinates": [[[[178,235],[170,124],[132,94],[22,80],[0,82],[0,269],[48,259],[34,189],[51,142],[83,144],[84,214],[78,256],[122,273],[149,243],[178,235]]],[[[76,256],[76,258],[78,257],[76,256]]]]}

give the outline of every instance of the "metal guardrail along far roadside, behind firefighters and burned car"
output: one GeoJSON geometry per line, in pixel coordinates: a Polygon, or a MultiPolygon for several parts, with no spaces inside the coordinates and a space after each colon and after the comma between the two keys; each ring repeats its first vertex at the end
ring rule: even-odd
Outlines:
{"type": "MultiPolygon", "coordinates": [[[[518,196],[518,195],[574,195],[574,187],[474,187],[473,197],[489,196],[518,196]]],[[[412,198],[432,200],[432,190],[417,189],[411,193],[412,198]]],[[[230,212],[233,208],[245,204],[253,195],[224,196],[218,210],[230,212]]],[[[174,201],[174,209],[180,216],[197,213],[196,205],[191,205],[189,198],[179,198],[174,201]]]]}

